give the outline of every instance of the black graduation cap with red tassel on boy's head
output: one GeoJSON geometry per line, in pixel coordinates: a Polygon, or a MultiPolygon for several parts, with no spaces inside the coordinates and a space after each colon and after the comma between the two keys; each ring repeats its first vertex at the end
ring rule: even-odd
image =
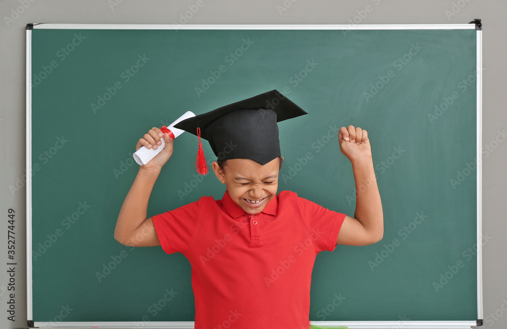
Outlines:
{"type": "Polygon", "coordinates": [[[244,158],[266,164],[281,155],[277,122],[304,114],[308,113],[273,89],[183,120],[174,127],[199,137],[196,169],[204,175],[207,168],[201,137],[220,160],[244,158]]]}

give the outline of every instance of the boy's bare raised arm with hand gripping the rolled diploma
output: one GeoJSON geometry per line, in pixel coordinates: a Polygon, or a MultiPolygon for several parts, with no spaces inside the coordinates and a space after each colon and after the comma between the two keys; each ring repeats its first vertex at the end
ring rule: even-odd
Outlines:
{"type": "Polygon", "coordinates": [[[162,166],[172,154],[173,140],[153,127],[137,143],[141,146],[156,149],[164,138],[165,147],[149,163],[140,166],[139,172],[123,202],[115,228],[115,239],[121,244],[134,247],[160,246],[152,218],[146,218],[148,200],[162,166]]]}

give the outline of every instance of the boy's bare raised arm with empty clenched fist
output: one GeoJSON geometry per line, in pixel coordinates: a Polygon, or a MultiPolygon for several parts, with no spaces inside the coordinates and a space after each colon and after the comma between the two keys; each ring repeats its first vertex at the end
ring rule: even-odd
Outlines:
{"type": "Polygon", "coordinates": [[[354,218],[345,217],[336,243],[354,246],[376,243],[384,234],[384,217],[368,132],[351,125],[342,127],[339,142],[342,153],[352,163],[357,199],[354,218]]]}

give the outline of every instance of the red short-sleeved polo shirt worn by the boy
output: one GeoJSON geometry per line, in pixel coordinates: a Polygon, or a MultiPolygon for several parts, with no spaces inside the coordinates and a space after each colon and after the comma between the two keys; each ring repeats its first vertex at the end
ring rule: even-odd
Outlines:
{"type": "Polygon", "coordinates": [[[255,216],[226,191],[153,216],[163,250],[192,266],[195,329],[309,328],[315,256],[333,251],[345,214],[281,191],[255,216]]]}

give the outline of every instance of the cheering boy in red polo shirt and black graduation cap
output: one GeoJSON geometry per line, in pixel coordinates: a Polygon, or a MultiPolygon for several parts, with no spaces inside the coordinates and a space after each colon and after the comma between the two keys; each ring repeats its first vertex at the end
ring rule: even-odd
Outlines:
{"type": "Polygon", "coordinates": [[[240,329],[309,328],[311,272],[318,252],[382,239],[382,205],[364,129],[350,125],[339,131],[340,149],[352,162],[358,191],[355,218],[291,191],[276,194],[283,161],[277,121],[304,114],[272,90],[178,123],[176,128],[198,135],[199,142],[207,139],[220,154],[212,170],[226,191],[222,200],[203,196],[150,218],[148,199],[172,154],[173,140],[153,127],[138,141],[136,149],[155,149],[162,138],[166,144],[139,168],[115,239],[128,246],[162,246],[166,253],[181,252],[189,259],[196,329],[226,323],[240,329]]]}

